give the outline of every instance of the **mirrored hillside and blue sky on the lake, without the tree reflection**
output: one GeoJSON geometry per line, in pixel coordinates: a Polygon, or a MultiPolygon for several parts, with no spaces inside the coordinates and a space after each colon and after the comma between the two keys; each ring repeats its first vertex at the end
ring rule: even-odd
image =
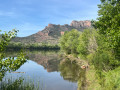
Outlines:
{"type": "MultiPolygon", "coordinates": [[[[41,79],[44,90],[76,90],[76,82],[65,80],[59,71],[59,64],[63,58],[60,52],[26,52],[29,57],[28,62],[20,67],[16,72],[25,73],[10,73],[15,77],[27,77],[34,79],[34,82],[41,79]],[[17,75],[17,76],[16,76],[17,75]]],[[[16,52],[7,54],[8,56],[16,56],[16,52]]],[[[41,83],[40,83],[41,84],[41,83]]]]}

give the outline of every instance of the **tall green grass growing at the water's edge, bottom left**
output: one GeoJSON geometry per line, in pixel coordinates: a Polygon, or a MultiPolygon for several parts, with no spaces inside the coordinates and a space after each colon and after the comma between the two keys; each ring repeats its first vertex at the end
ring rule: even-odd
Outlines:
{"type": "Polygon", "coordinates": [[[34,81],[30,78],[13,77],[4,78],[0,82],[0,90],[43,90],[40,81],[34,81]]]}

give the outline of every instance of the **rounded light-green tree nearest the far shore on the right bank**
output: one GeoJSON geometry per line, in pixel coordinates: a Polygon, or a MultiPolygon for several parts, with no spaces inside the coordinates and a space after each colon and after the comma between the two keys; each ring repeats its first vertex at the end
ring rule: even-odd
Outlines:
{"type": "Polygon", "coordinates": [[[78,38],[80,36],[80,32],[73,29],[70,32],[66,32],[61,40],[60,45],[61,48],[67,53],[67,54],[77,54],[77,45],[78,45],[78,38]]]}

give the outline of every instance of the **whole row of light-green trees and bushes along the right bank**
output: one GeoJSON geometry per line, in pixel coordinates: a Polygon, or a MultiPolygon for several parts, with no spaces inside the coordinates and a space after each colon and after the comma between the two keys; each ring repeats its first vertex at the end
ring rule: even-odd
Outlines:
{"type": "Polygon", "coordinates": [[[62,36],[60,45],[66,54],[91,61],[97,69],[109,70],[120,65],[118,54],[96,29],[72,30],[62,36]]]}

